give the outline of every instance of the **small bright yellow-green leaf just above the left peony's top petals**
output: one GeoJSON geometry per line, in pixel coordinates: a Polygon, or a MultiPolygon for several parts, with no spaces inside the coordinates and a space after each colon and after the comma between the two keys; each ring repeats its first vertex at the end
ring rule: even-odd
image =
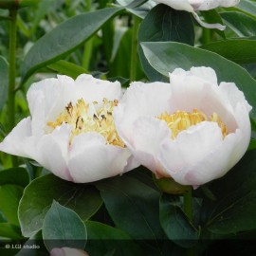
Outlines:
{"type": "Polygon", "coordinates": [[[63,74],[73,79],[76,79],[81,74],[88,73],[88,71],[86,71],[82,66],[79,66],[77,64],[71,64],[63,60],[54,64],[49,64],[48,68],[57,71],[58,74],[63,74]]]}

